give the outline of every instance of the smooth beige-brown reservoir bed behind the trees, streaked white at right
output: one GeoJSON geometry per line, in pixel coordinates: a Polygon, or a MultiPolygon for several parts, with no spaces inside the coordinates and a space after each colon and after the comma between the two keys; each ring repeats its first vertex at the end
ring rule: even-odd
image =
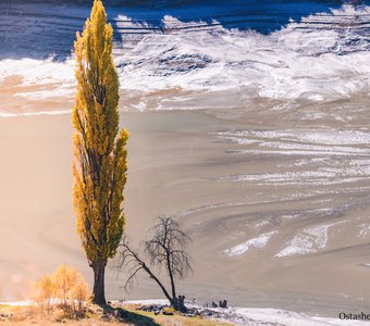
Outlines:
{"type": "MultiPolygon", "coordinates": [[[[69,114],[0,120],[0,279],[3,300],[59,264],[90,279],[71,200],[69,114]]],[[[370,173],[360,128],[292,127],[205,112],[122,113],[131,133],[126,231],[143,239],[159,215],[193,237],[198,302],[337,316],[369,311],[370,173]]],[[[156,298],[145,277],[111,299],[156,298]]]]}

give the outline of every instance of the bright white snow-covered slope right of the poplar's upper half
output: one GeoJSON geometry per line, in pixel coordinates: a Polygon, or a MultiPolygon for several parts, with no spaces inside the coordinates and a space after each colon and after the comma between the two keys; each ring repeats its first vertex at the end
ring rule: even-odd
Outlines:
{"type": "Polygon", "coordinates": [[[205,24],[164,16],[164,34],[146,35],[118,60],[122,87],[245,87],[252,98],[287,100],[337,99],[368,91],[369,17],[369,8],[345,5],[266,36],[224,29],[217,22],[211,30],[199,32],[205,24]],[[178,30],[184,25],[188,29],[178,30]]]}

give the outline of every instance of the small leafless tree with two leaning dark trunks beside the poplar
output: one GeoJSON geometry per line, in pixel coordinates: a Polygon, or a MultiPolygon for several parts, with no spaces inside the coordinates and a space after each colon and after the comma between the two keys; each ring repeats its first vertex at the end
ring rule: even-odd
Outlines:
{"type": "Polygon", "coordinates": [[[181,229],[176,221],[159,216],[157,224],[152,227],[151,237],[144,242],[144,253],[149,259],[149,263],[147,263],[137,251],[130,247],[127,239],[124,238],[118,260],[119,268],[127,268],[130,274],[125,289],[133,286],[136,275],[140,271],[145,271],[157,283],[175,310],[186,310],[184,305],[185,297],[177,297],[175,279],[183,279],[192,272],[190,255],[187,252],[187,244],[192,239],[181,229]],[[152,272],[151,267],[153,266],[165,271],[171,284],[170,290],[152,272]]]}

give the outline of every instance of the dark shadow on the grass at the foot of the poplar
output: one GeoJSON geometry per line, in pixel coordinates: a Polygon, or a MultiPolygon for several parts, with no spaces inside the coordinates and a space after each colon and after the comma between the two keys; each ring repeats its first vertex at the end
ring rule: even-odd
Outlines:
{"type": "Polygon", "coordinates": [[[106,314],[113,315],[121,323],[134,324],[136,326],[160,326],[151,317],[139,313],[124,310],[123,308],[114,308],[110,304],[98,304],[106,314]]]}

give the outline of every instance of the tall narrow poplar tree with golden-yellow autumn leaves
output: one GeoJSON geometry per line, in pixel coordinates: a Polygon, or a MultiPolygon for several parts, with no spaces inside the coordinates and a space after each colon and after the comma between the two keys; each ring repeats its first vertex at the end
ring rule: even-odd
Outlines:
{"type": "Polygon", "coordinates": [[[113,28],[100,0],[75,41],[77,95],[72,113],[73,202],[77,231],[94,271],[92,302],[106,304],[104,271],[122,238],[126,141],[119,133],[119,79],[112,59],[113,28]]]}

